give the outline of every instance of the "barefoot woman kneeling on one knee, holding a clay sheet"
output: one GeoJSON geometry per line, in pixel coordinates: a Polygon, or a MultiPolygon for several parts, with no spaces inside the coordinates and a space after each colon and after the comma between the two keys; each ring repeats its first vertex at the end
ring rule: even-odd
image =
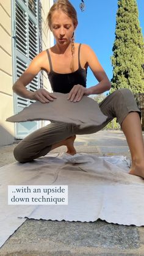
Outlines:
{"type": "MultiPolygon", "coordinates": [[[[48,72],[49,81],[54,92],[69,93],[68,100],[80,101],[83,95],[99,94],[110,89],[110,81],[103,67],[99,64],[93,50],[88,45],[74,43],[74,31],[77,27],[77,15],[73,5],[67,0],[59,0],[49,10],[48,26],[56,45],[42,51],[31,62],[23,75],[13,85],[13,91],[24,98],[38,100],[41,103],[55,101],[56,96],[45,89],[29,92],[26,89],[40,70],[48,72]],[[90,67],[99,83],[86,88],[87,68],[90,67]]],[[[103,125],[95,128],[96,132],[117,117],[121,125],[132,156],[129,174],[144,178],[144,145],[140,123],[140,111],[128,89],[120,89],[107,96],[99,107],[107,116],[103,125]]],[[[21,141],[14,150],[15,158],[21,163],[32,161],[46,155],[50,150],[66,145],[68,153],[74,155],[75,134],[91,131],[79,130],[75,125],[51,123],[40,128],[21,141]]]]}

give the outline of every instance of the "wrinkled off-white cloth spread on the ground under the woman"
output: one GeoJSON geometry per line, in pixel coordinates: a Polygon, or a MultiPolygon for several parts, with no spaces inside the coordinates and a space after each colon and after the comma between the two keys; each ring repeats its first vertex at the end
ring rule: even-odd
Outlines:
{"type": "Polygon", "coordinates": [[[0,246],[26,218],[144,225],[144,180],[124,156],[48,154],[0,168],[0,246]],[[8,205],[8,185],[68,185],[68,205],[8,205]]]}

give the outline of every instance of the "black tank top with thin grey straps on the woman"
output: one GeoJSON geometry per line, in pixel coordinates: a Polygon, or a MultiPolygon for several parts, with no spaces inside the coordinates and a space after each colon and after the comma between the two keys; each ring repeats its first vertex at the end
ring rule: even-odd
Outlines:
{"type": "Polygon", "coordinates": [[[67,73],[67,74],[56,73],[52,70],[51,56],[49,54],[48,49],[46,49],[46,52],[48,53],[49,67],[50,67],[48,78],[49,78],[49,82],[51,84],[53,92],[68,93],[70,92],[70,90],[73,88],[75,84],[81,84],[81,86],[86,87],[87,70],[81,67],[81,63],[79,60],[80,48],[81,48],[81,43],[79,44],[79,50],[78,50],[79,68],[73,73],[67,73]]]}

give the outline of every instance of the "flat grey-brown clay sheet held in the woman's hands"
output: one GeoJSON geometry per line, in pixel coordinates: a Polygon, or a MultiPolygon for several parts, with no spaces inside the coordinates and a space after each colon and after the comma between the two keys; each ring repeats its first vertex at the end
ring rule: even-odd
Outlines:
{"type": "Polygon", "coordinates": [[[57,99],[49,103],[36,101],[16,115],[9,117],[9,122],[26,122],[32,120],[50,120],[72,123],[80,128],[99,126],[107,119],[101,112],[99,104],[90,97],[84,96],[79,102],[67,100],[68,93],[55,92],[57,99]]]}

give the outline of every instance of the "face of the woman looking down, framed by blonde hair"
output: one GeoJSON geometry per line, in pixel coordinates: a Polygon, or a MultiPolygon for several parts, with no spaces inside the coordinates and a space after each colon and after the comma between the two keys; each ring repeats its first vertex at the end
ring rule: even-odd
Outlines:
{"type": "Polygon", "coordinates": [[[51,31],[57,44],[67,45],[70,43],[74,32],[73,20],[61,10],[55,10],[51,16],[51,31]]]}

